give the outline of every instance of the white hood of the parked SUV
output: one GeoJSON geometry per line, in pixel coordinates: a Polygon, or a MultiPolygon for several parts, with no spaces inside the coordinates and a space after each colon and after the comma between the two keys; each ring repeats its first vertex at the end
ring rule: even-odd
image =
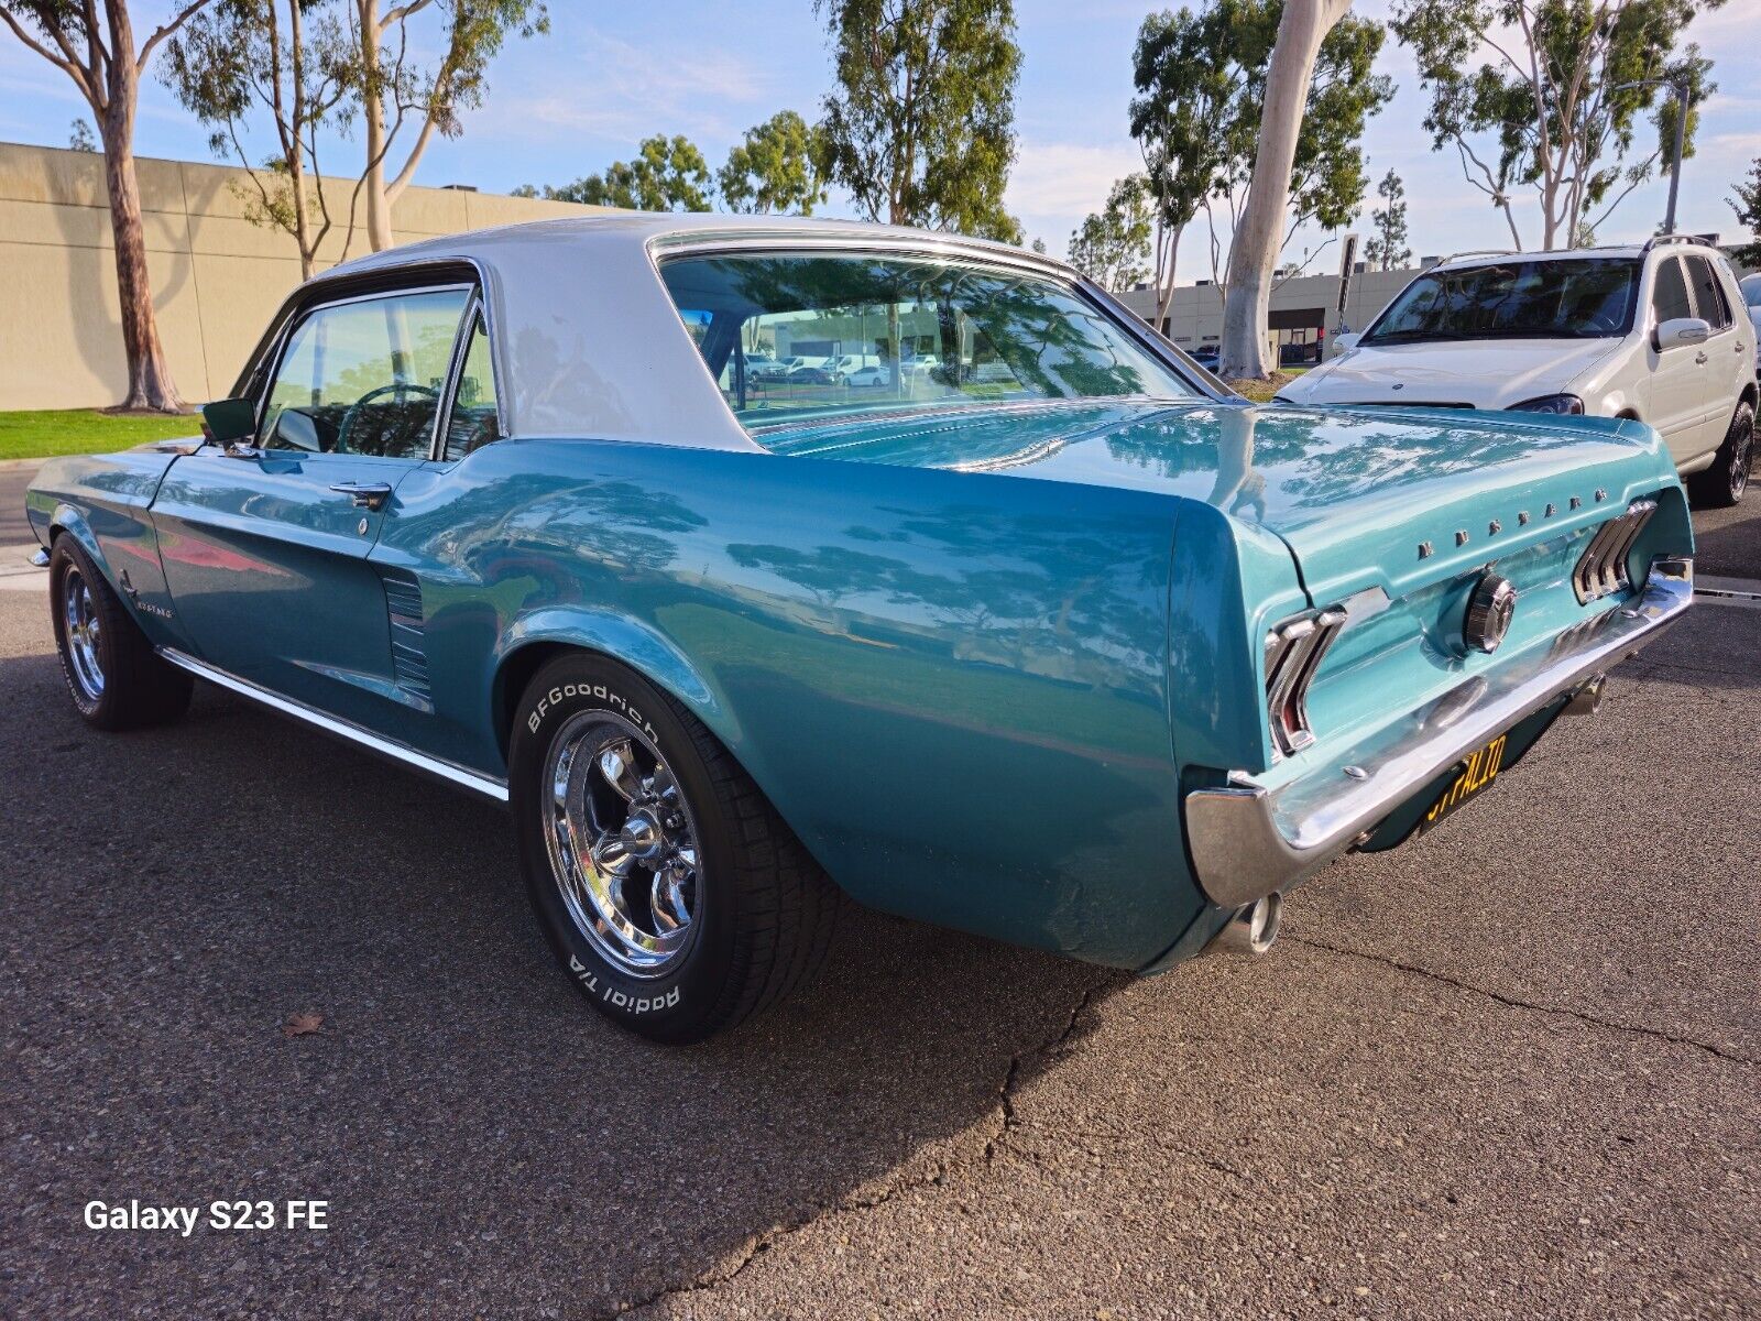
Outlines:
{"type": "Polygon", "coordinates": [[[1562,393],[1618,345],[1618,338],[1358,345],[1280,393],[1296,403],[1507,409],[1562,393]]]}

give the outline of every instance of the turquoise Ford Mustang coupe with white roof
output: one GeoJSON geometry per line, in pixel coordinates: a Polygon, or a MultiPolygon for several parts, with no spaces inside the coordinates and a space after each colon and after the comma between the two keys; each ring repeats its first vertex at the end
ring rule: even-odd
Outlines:
{"type": "Polygon", "coordinates": [[[417,243],[296,291],[232,393],[32,486],[76,706],[204,678],[507,801],[567,976],[664,1041],[787,992],[842,893],[1264,949],[1692,595],[1648,426],[1256,407],[947,234],[417,243]]]}

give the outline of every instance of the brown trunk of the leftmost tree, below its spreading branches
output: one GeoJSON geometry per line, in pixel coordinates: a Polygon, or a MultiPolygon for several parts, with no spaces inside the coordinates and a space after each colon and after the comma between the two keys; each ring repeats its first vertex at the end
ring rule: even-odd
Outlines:
{"type": "Polygon", "coordinates": [[[134,176],[134,106],[139,76],[134,42],[113,51],[109,106],[100,122],[104,134],[104,183],[109,188],[111,245],[116,254],[116,299],[122,343],[129,359],[129,393],[123,410],[183,412],[183,400],[166,365],[153,315],[153,282],[146,268],[146,229],[141,224],[141,187],[134,176]]]}

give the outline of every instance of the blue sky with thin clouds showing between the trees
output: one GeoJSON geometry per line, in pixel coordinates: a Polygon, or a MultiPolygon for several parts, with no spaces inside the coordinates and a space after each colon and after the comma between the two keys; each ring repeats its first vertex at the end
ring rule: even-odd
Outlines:
{"type": "MultiPolygon", "coordinates": [[[[1053,252],[1062,254],[1069,231],[1101,206],[1108,185],[1139,166],[1125,127],[1131,48],[1143,16],[1157,7],[1018,0],[1020,160],[1009,208],[1027,234],[1044,238],[1053,252]]],[[[150,30],[167,9],[136,0],[137,32],[150,30]]],[[[810,0],[551,0],[549,9],[551,33],[507,49],[491,70],[484,106],[467,116],[460,139],[430,146],[419,183],[474,183],[484,192],[562,183],[629,157],[653,132],[692,137],[715,166],[748,125],[773,111],[812,114],[829,83],[824,30],[810,0]]],[[[1359,0],[1354,9],[1384,18],[1388,0],[1359,0]]],[[[1761,0],[1729,0],[1698,19],[1691,35],[1717,60],[1720,92],[1703,107],[1699,153],[1684,171],[1682,227],[1733,238],[1740,231],[1724,199],[1749,162],[1761,157],[1761,83],[1752,77],[1752,62],[1745,69],[1731,56],[1761,46],[1761,0]]],[[[1455,155],[1430,151],[1419,127],[1425,97],[1411,58],[1389,42],[1381,63],[1400,92],[1372,122],[1365,146],[1372,178],[1389,166],[1405,178],[1414,250],[1504,245],[1502,218],[1462,180],[1455,155]]],[[[81,111],[83,102],[60,70],[0,35],[0,139],[65,146],[69,122],[81,111]]],[[[143,85],[136,150],[211,159],[206,132],[153,77],[143,85]]],[[[345,160],[357,150],[336,144],[331,159],[345,160]]],[[[845,208],[835,203],[831,210],[845,208]]],[[[1662,210],[1664,183],[1654,181],[1615,211],[1599,238],[1641,238],[1662,210]]],[[[1525,238],[1534,241],[1537,229],[1530,220],[1525,238]]],[[[1291,254],[1321,238],[1300,234],[1291,254]]],[[[1317,259],[1317,269],[1328,268],[1333,252],[1317,259]]],[[[1205,236],[1189,231],[1180,278],[1208,275],[1205,236]]]]}

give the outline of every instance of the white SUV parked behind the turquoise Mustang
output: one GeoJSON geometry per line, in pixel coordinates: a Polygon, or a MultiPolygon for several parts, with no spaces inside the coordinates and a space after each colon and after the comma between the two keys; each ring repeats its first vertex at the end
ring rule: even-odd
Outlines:
{"type": "Polygon", "coordinates": [[[1696,504],[1729,506],[1749,484],[1754,340],[1729,261],[1687,236],[1476,254],[1419,275],[1278,398],[1638,417],[1696,504]]]}

